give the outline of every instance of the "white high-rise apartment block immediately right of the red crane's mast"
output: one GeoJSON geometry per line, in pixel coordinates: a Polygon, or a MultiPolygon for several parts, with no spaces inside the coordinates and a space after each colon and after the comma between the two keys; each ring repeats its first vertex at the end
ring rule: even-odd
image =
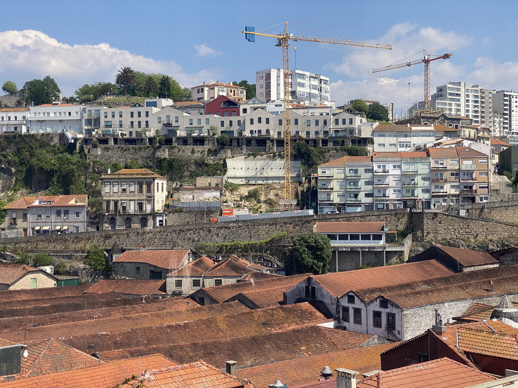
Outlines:
{"type": "Polygon", "coordinates": [[[472,119],[473,125],[493,123],[492,89],[484,89],[479,85],[466,86],[466,82],[448,82],[437,86],[437,92],[431,95],[432,110],[443,110],[447,114],[466,116],[472,119]]]}

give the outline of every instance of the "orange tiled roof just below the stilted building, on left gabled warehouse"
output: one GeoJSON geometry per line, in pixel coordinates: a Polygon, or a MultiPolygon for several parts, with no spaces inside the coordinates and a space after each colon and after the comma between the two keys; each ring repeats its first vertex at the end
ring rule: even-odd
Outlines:
{"type": "Polygon", "coordinates": [[[372,285],[394,286],[411,281],[451,275],[452,272],[435,260],[404,263],[363,270],[333,272],[311,276],[329,293],[338,297],[351,290],[370,288],[372,285]]]}

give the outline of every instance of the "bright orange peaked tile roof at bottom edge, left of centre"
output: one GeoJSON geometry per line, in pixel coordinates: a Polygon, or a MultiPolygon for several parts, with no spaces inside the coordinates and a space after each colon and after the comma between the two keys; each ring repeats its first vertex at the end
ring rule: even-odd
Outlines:
{"type": "Polygon", "coordinates": [[[172,366],[160,370],[146,370],[135,379],[126,383],[121,381],[120,388],[238,388],[244,383],[203,360],[195,363],[172,366]]]}

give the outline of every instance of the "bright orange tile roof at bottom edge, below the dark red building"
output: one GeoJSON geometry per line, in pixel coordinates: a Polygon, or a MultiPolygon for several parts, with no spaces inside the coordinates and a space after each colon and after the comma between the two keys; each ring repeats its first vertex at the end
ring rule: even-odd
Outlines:
{"type": "Polygon", "coordinates": [[[434,388],[467,387],[497,380],[480,370],[463,365],[447,357],[402,368],[384,370],[363,379],[357,388],[434,388]]]}

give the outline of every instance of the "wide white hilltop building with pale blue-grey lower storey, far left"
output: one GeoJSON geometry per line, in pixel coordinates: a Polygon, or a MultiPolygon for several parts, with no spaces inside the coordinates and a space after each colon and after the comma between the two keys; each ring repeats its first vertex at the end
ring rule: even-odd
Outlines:
{"type": "Polygon", "coordinates": [[[82,105],[52,103],[30,107],[26,118],[28,133],[82,132],[82,105]]]}

